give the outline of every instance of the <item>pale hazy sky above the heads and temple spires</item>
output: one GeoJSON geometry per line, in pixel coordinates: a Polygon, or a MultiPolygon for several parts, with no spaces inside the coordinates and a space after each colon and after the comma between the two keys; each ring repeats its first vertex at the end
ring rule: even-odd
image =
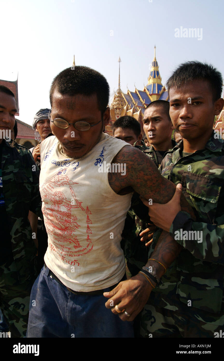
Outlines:
{"type": "Polygon", "coordinates": [[[73,54],[76,65],[106,77],[111,93],[119,56],[122,91],[134,91],[134,83],[143,90],[154,44],[163,85],[187,60],[210,62],[224,75],[223,10],[223,0],[1,0],[0,79],[19,73],[18,118],[32,124],[50,107],[50,84],[73,54]],[[202,28],[202,40],[175,38],[181,26],[202,28]]]}

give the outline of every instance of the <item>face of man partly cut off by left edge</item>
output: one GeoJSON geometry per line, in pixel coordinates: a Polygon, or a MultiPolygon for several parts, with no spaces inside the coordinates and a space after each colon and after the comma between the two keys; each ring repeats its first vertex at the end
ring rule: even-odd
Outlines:
{"type": "Polygon", "coordinates": [[[0,92],[0,144],[3,140],[3,131],[9,132],[15,125],[17,112],[15,98],[12,95],[0,92]]]}

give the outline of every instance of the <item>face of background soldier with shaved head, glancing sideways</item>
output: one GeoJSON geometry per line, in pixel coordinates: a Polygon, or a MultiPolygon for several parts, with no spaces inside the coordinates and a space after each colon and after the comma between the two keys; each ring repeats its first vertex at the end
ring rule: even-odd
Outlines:
{"type": "Polygon", "coordinates": [[[145,109],[143,129],[150,145],[162,145],[171,140],[173,124],[162,106],[151,106],[145,109]]]}

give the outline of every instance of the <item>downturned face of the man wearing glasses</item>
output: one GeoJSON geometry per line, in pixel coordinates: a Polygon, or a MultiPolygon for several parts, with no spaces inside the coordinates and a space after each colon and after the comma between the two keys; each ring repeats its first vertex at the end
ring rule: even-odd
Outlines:
{"type": "Polygon", "coordinates": [[[96,94],[70,96],[62,95],[55,90],[52,98],[51,120],[55,118],[64,119],[68,123],[85,121],[93,125],[99,122],[86,131],[77,130],[73,125],[61,129],[50,122],[51,130],[61,143],[63,153],[70,158],[79,159],[99,142],[104,126],[109,123],[109,108],[106,109],[103,120],[100,122],[102,115],[98,109],[96,94]]]}

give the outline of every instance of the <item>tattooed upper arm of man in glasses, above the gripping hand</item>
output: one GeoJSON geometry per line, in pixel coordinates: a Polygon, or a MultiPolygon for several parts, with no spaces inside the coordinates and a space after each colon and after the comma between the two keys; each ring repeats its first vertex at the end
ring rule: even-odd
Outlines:
{"type": "MultiPolygon", "coordinates": [[[[123,147],[113,158],[112,163],[126,165],[126,174],[108,173],[108,181],[117,194],[124,195],[133,190],[152,202],[167,203],[175,193],[175,184],[168,181],[158,171],[150,157],[134,147],[123,147]]],[[[181,196],[182,211],[194,217],[192,208],[184,195],[181,196]]]]}

